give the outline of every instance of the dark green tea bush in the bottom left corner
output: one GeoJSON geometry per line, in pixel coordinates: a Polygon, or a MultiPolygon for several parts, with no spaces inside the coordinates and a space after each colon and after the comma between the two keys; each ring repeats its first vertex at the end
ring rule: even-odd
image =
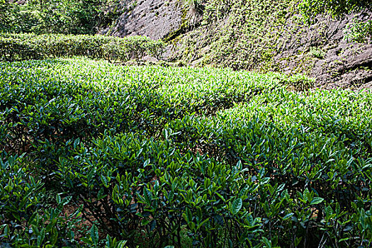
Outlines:
{"type": "Polygon", "coordinates": [[[65,219],[63,205],[70,198],[57,196],[57,208],[43,204],[45,188],[28,161],[21,157],[0,157],[0,244],[14,247],[58,246],[74,242],[74,213],[65,219]],[[67,243],[66,243],[67,242],[67,243]]]}

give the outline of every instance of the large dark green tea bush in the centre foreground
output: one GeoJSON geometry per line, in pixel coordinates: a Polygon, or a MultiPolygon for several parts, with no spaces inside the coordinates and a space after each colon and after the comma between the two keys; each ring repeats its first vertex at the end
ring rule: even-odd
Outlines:
{"type": "Polygon", "coordinates": [[[261,219],[246,212],[258,189],[241,174],[242,164],[181,154],[167,140],[105,136],[58,164],[61,183],[103,230],[131,245],[143,230],[154,246],[181,246],[184,229],[201,247],[260,244],[261,219]]]}

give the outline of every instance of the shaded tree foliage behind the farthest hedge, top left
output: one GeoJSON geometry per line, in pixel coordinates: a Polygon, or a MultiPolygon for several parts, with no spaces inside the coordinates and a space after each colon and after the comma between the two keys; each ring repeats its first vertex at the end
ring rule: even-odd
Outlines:
{"type": "Polygon", "coordinates": [[[0,2],[0,32],[94,34],[120,14],[111,0],[0,2]]]}

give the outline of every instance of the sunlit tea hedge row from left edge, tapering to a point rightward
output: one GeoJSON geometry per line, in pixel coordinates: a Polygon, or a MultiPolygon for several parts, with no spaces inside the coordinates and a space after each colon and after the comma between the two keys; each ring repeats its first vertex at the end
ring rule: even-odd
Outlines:
{"type": "MultiPolygon", "coordinates": [[[[197,77],[194,84],[186,84],[182,77],[174,81],[177,69],[173,68],[118,69],[105,62],[94,65],[81,60],[5,63],[0,68],[4,72],[0,111],[4,111],[4,128],[8,127],[9,133],[4,142],[7,150],[17,153],[30,149],[29,142],[36,147],[40,140],[54,145],[72,138],[85,142],[105,130],[136,131],[154,137],[169,120],[189,113],[213,114],[274,89],[265,81],[254,81],[259,77],[249,74],[242,77],[246,81],[237,78],[227,82],[216,71],[209,73],[209,85],[197,77]]],[[[184,77],[189,72],[184,69],[178,73],[184,77]]]]}

